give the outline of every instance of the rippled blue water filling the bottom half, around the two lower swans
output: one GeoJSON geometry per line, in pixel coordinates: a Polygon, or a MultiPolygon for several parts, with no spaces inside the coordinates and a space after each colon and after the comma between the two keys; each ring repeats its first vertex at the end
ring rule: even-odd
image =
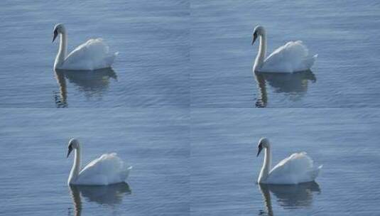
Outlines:
{"type": "Polygon", "coordinates": [[[75,215],[77,209],[81,215],[377,215],[380,210],[378,109],[58,110],[0,109],[0,215],[75,215]],[[316,183],[256,185],[262,136],[272,142],[273,165],[298,151],[322,164],[316,183]],[[70,137],[82,141],[84,164],[116,152],[134,166],[128,186],[70,190],[70,137]]]}

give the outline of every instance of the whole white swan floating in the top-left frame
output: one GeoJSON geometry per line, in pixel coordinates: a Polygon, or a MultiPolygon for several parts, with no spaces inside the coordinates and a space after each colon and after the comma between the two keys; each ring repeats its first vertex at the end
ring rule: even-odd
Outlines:
{"type": "Polygon", "coordinates": [[[89,39],[67,55],[67,31],[62,23],[54,27],[53,41],[60,34],[60,48],[55,57],[54,69],[97,70],[110,68],[118,53],[109,53],[102,38],[89,39]]]}

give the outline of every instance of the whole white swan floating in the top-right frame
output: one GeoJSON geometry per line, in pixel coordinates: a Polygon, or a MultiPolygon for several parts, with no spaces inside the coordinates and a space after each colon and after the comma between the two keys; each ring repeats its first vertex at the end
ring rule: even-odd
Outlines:
{"type": "Polygon", "coordinates": [[[302,41],[290,41],[266,55],[266,31],[263,26],[256,26],[252,38],[252,45],[260,37],[259,53],[254,62],[254,72],[300,72],[310,70],[317,55],[310,56],[308,48],[302,41]]]}

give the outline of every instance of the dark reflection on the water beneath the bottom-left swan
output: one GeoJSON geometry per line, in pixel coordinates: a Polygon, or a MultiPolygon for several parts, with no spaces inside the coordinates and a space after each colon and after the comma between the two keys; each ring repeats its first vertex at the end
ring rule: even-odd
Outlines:
{"type": "Polygon", "coordinates": [[[107,186],[70,185],[70,192],[74,208],[69,208],[69,214],[80,216],[82,213],[82,198],[87,202],[96,202],[102,206],[121,204],[125,195],[131,194],[127,183],[117,183],[107,186]]]}

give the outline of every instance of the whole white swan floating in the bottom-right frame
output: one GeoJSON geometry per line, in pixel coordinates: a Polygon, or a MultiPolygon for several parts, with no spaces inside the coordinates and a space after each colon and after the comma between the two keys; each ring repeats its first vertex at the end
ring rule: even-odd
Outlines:
{"type": "Polygon", "coordinates": [[[305,152],[293,153],[271,169],[271,144],[266,138],[259,141],[259,151],[265,148],[264,164],[261,168],[258,183],[298,184],[307,183],[317,178],[322,166],[314,166],[313,160],[305,152]]]}

